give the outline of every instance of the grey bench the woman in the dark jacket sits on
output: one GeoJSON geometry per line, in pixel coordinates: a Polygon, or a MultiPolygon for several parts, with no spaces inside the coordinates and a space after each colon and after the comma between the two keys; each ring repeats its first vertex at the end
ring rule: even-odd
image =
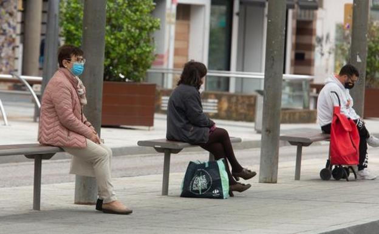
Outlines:
{"type": "MultiPolygon", "coordinates": [[[[242,139],[239,137],[230,137],[230,141],[232,143],[240,143],[242,142],[242,139]]],[[[137,144],[139,146],[153,147],[155,151],[159,153],[164,153],[162,195],[168,195],[171,154],[177,154],[184,148],[200,147],[198,145],[193,145],[180,141],[169,141],[166,139],[138,141],[137,144]]],[[[209,160],[214,160],[214,157],[211,153],[209,153],[209,160]]]]}

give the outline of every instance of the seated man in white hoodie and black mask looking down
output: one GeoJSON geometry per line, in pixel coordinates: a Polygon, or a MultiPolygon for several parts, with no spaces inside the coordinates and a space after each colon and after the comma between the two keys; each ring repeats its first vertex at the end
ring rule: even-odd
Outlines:
{"type": "Polygon", "coordinates": [[[341,113],[354,120],[359,131],[359,165],[358,179],[372,180],[376,175],[367,170],[368,155],[367,144],[373,147],[379,146],[379,139],[370,136],[365,127],[365,122],[360,119],[353,108],[353,99],[349,90],[354,87],[354,83],[359,78],[358,70],[351,64],[346,64],[341,68],[339,74],[332,74],[327,78],[324,88],[320,91],[317,101],[317,121],[321,130],[330,133],[330,126],[333,118],[333,107],[341,102],[341,113]],[[338,98],[337,98],[338,96],[338,98]]]}

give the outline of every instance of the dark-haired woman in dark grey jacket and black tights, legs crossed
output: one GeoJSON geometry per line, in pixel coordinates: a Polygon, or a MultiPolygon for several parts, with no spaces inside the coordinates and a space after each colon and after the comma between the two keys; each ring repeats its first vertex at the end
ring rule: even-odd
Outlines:
{"type": "Polygon", "coordinates": [[[211,152],[216,160],[224,158],[229,176],[230,196],[233,196],[233,191],[243,192],[251,187],[250,184],[236,182],[239,177],[251,179],[257,173],[243,168],[238,163],[228,132],[216,127],[204,114],[199,89],[206,74],[207,68],[203,63],[189,61],[185,64],[178,86],[168,101],[166,138],[197,144],[211,152]],[[228,161],[232,166],[232,172],[228,161]]]}

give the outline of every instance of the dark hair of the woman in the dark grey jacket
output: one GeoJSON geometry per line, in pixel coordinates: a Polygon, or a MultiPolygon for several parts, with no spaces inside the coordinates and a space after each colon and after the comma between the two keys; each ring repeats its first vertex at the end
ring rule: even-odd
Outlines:
{"type": "Polygon", "coordinates": [[[195,86],[197,89],[200,89],[201,78],[205,75],[207,75],[207,67],[204,63],[189,61],[184,64],[178,85],[191,85],[195,86]]]}

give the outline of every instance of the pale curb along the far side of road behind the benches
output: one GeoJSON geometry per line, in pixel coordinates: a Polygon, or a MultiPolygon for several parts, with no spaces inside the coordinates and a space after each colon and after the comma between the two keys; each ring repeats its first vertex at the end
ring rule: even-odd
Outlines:
{"type": "MultiPolygon", "coordinates": [[[[312,145],[321,145],[322,142],[315,142],[312,145]]],[[[257,149],[260,148],[260,140],[246,140],[241,143],[234,143],[234,150],[242,150],[242,149],[257,149]]],[[[282,146],[290,146],[287,141],[279,141],[279,147],[282,146]]],[[[161,156],[163,154],[157,153],[152,147],[144,147],[144,146],[123,146],[123,147],[111,147],[113,156],[136,156],[136,155],[146,155],[146,154],[156,154],[161,156]]],[[[204,152],[204,149],[200,147],[191,147],[183,149],[184,153],[191,152],[204,152]]],[[[51,160],[62,160],[62,159],[70,159],[71,156],[66,152],[56,153],[51,160]]],[[[0,157],[0,164],[2,163],[18,163],[18,162],[33,162],[30,159],[27,159],[24,155],[13,155],[13,156],[5,156],[0,157]]]]}

